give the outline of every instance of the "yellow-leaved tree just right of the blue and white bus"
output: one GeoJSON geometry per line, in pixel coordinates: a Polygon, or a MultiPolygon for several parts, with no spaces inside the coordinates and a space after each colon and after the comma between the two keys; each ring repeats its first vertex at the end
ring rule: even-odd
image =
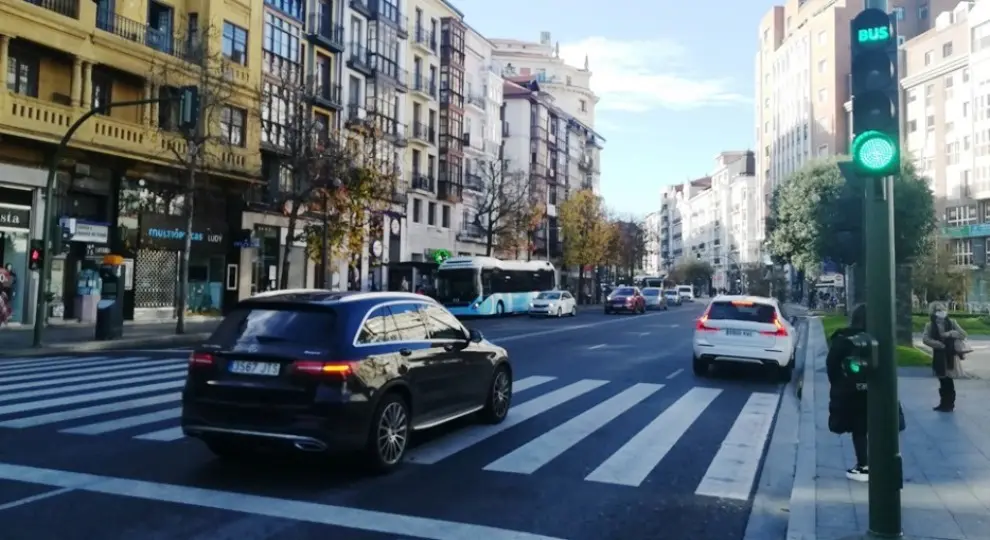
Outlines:
{"type": "Polygon", "coordinates": [[[604,200],[591,190],[581,190],[559,206],[564,264],[578,267],[579,298],[583,298],[584,266],[606,262],[614,243],[615,226],[608,221],[604,200]]]}

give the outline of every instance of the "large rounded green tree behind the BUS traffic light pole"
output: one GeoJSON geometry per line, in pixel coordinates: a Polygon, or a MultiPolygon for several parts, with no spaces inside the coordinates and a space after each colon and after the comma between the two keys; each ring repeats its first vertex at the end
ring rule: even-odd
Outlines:
{"type": "MultiPolygon", "coordinates": [[[[773,195],[768,247],[775,257],[805,271],[814,272],[826,259],[841,264],[862,261],[862,195],[847,185],[837,161],[809,163],[773,195]]],[[[894,186],[897,262],[908,262],[920,253],[934,227],[928,182],[905,162],[894,186]]]]}

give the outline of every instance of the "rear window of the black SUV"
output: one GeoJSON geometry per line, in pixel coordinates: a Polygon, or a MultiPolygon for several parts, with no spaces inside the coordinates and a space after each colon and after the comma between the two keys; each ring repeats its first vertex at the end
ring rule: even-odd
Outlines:
{"type": "Polygon", "coordinates": [[[323,309],[245,307],[227,315],[210,342],[221,346],[237,343],[281,343],[325,348],[335,341],[337,315],[323,309]]]}

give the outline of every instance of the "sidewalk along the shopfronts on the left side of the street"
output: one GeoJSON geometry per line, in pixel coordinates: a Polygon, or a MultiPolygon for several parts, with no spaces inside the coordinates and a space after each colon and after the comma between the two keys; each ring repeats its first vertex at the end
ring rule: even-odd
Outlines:
{"type": "Polygon", "coordinates": [[[142,347],[180,347],[209,337],[219,319],[186,322],[186,333],[175,334],[175,321],[125,322],[124,335],[111,341],[96,341],[91,324],[54,324],[45,328],[44,346],[31,347],[34,329],[7,327],[0,329],[0,362],[3,358],[52,355],[66,352],[105,351],[142,347]]]}

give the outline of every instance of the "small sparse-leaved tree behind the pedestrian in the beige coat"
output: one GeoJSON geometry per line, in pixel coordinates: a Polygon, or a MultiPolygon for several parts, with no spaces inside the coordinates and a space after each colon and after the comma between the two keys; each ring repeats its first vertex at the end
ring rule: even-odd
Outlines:
{"type": "Polygon", "coordinates": [[[924,251],[915,258],[911,277],[914,294],[928,303],[965,298],[971,274],[956,266],[951,245],[932,235],[926,239],[924,251]]]}

